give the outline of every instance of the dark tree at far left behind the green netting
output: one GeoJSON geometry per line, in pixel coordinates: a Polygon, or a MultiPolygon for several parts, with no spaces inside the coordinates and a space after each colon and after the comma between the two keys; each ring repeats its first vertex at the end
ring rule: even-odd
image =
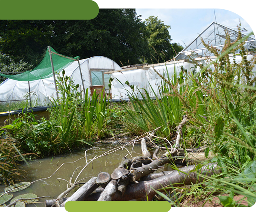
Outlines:
{"type": "Polygon", "coordinates": [[[51,45],[52,34],[52,25],[44,20],[1,20],[0,52],[35,67],[51,45]]]}

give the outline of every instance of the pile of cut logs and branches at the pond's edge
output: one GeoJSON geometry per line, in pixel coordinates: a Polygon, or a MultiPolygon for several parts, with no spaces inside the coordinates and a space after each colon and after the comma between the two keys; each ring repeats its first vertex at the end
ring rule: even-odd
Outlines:
{"type": "MultiPolygon", "coordinates": [[[[178,163],[185,163],[188,158],[194,160],[201,157],[201,153],[190,152],[185,154],[180,152],[179,143],[181,139],[182,126],[186,123],[187,117],[177,127],[177,139],[174,148],[167,149],[162,156],[157,156],[160,147],[157,147],[154,154],[150,154],[147,149],[147,142],[154,135],[141,139],[141,157],[125,158],[120,165],[110,175],[101,172],[98,176],[91,178],[86,184],[81,186],[69,198],[60,196],[57,199],[46,200],[46,206],[64,207],[68,201],[129,201],[132,199],[152,200],[157,194],[156,191],[166,192],[173,187],[196,184],[203,182],[205,177],[219,173],[220,169],[216,164],[185,165],[173,171],[162,171],[153,173],[163,165],[171,163],[175,166],[178,163]],[[199,174],[199,175],[198,175],[199,174]]],[[[191,150],[193,151],[193,150],[191,150]]],[[[204,156],[204,153],[202,153],[204,156]]],[[[201,159],[199,159],[201,160],[201,159]]]]}

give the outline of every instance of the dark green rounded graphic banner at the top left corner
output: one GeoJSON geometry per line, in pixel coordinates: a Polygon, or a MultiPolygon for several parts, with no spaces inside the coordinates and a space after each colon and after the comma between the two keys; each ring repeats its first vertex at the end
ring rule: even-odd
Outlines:
{"type": "Polygon", "coordinates": [[[12,0],[1,1],[0,19],[93,19],[99,13],[95,1],[12,0]]]}

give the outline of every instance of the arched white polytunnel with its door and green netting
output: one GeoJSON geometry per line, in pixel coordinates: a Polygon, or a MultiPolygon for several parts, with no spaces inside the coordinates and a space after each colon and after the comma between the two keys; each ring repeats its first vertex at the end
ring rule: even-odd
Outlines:
{"type": "MultiPolygon", "coordinates": [[[[51,50],[56,53],[52,48],[51,50]]],[[[79,84],[81,92],[83,91],[83,85],[85,90],[92,85],[103,85],[108,90],[109,77],[104,75],[104,72],[121,69],[113,60],[103,56],[95,56],[79,60],[80,73],[77,57],[74,58],[75,60],[60,63],[57,58],[58,55],[60,54],[53,54],[55,72],[58,73],[64,69],[65,75],[71,77],[75,84],[79,84]]],[[[32,71],[10,76],[1,74],[9,78],[0,84],[0,102],[29,100],[29,94],[33,105],[47,105],[52,98],[56,99],[55,80],[47,53],[45,58],[43,59],[43,61],[46,60],[44,65],[42,66],[42,61],[32,71]]]]}

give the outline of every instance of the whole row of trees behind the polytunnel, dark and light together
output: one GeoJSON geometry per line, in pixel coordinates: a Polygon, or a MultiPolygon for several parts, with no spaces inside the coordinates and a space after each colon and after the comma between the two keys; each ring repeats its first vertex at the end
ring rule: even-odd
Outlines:
{"type": "Polygon", "coordinates": [[[102,55],[121,66],[164,62],[182,49],[171,44],[168,28],[154,16],[142,22],[135,9],[100,9],[92,20],[0,20],[0,53],[33,67],[47,46],[70,57],[102,55]]]}

